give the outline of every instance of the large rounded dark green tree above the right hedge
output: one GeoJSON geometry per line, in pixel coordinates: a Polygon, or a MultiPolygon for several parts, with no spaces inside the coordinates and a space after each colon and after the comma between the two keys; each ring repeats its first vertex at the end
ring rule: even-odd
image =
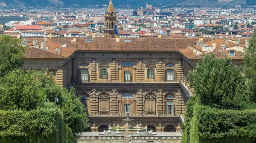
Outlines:
{"type": "Polygon", "coordinates": [[[219,109],[243,109],[248,100],[245,78],[231,59],[207,55],[189,72],[189,78],[200,104],[219,109]]]}

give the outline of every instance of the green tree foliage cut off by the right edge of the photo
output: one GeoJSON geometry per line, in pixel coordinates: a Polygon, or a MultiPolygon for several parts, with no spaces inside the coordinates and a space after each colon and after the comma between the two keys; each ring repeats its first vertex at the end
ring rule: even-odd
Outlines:
{"type": "Polygon", "coordinates": [[[250,100],[256,103],[256,32],[249,40],[249,47],[244,48],[244,74],[250,87],[250,100]]]}

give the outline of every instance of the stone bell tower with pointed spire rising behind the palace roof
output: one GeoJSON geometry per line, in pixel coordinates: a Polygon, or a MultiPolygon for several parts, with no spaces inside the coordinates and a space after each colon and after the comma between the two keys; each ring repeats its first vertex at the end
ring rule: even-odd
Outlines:
{"type": "Polygon", "coordinates": [[[108,10],[105,13],[104,37],[115,37],[116,12],[112,0],[109,1],[108,10]]]}

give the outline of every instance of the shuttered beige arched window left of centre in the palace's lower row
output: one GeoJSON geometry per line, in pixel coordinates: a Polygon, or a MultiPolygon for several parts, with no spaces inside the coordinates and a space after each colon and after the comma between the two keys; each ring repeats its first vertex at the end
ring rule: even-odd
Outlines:
{"type": "Polygon", "coordinates": [[[109,96],[105,93],[99,95],[99,115],[109,115],[109,96]]]}

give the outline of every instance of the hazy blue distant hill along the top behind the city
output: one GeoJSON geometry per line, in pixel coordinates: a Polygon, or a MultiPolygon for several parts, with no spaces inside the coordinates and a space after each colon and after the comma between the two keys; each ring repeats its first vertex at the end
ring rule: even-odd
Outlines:
{"type": "MultiPolygon", "coordinates": [[[[85,7],[90,5],[108,4],[109,0],[1,0],[0,8],[30,7],[85,7]]],[[[133,8],[145,7],[145,3],[157,7],[220,7],[229,4],[256,5],[256,0],[113,0],[114,7],[117,5],[131,5],[133,8]]]]}

